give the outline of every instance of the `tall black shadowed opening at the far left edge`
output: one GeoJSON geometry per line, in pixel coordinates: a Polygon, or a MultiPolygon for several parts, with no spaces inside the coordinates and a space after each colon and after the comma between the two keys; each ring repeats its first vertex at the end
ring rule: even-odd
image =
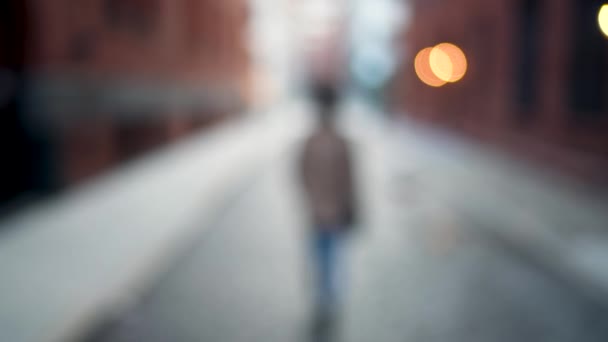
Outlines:
{"type": "Polygon", "coordinates": [[[25,2],[0,1],[0,216],[52,190],[52,147],[32,129],[22,101],[26,32],[25,2]]]}

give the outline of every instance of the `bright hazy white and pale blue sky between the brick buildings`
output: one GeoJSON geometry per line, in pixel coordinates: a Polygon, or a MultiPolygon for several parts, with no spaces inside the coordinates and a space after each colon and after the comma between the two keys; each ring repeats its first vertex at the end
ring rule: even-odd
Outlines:
{"type": "Polygon", "coordinates": [[[392,39],[407,23],[400,0],[251,0],[251,52],[277,89],[288,89],[306,72],[306,58],[336,27],[347,30],[355,79],[380,86],[395,67],[392,39]]]}

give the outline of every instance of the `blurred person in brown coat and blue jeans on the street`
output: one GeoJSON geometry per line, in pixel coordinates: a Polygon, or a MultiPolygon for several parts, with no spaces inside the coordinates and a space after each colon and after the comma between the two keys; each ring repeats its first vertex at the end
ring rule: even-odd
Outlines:
{"type": "Polygon", "coordinates": [[[355,223],[351,148],[335,124],[338,93],[330,85],[313,87],[318,124],[306,140],[300,171],[312,220],[317,323],[326,325],[338,309],[343,289],[341,257],[345,236],[355,223]]]}

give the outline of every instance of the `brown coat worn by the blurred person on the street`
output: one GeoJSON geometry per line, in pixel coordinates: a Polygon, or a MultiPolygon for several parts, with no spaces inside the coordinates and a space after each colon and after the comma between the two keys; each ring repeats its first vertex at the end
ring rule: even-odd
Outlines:
{"type": "Polygon", "coordinates": [[[351,169],[347,141],[333,127],[320,126],[306,141],[301,164],[306,198],[317,226],[344,227],[353,223],[351,169]]]}

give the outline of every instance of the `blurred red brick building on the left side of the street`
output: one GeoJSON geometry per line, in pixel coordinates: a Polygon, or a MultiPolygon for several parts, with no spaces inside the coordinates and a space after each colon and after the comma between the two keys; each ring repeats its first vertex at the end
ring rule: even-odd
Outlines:
{"type": "Polygon", "coordinates": [[[7,194],[77,182],[247,100],[246,0],[1,6],[0,86],[13,89],[2,146],[19,159],[2,182],[22,178],[7,194]]]}

